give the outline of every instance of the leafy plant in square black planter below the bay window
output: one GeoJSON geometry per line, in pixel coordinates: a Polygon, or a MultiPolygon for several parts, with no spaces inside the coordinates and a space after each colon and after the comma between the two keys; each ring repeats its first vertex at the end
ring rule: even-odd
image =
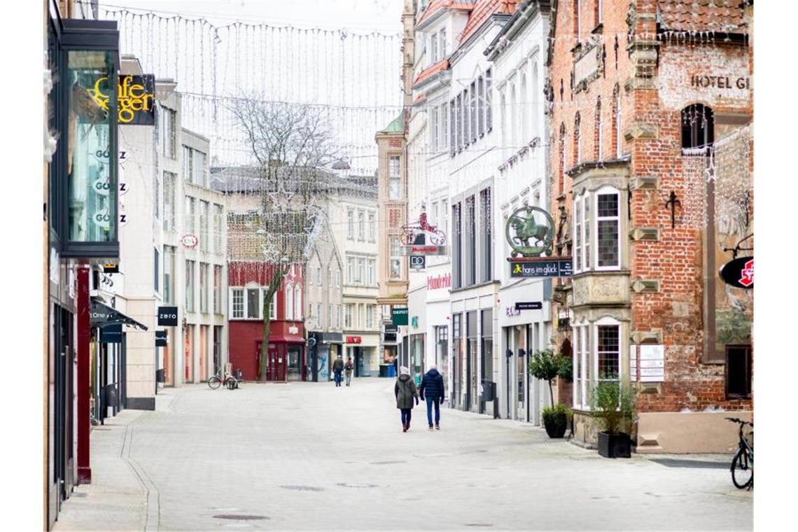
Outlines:
{"type": "Polygon", "coordinates": [[[634,395],[628,385],[615,380],[603,380],[592,392],[593,411],[602,420],[599,432],[599,455],[606,458],[630,458],[631,439],[621,432],[622,421],[634,414],[634,395]]]}

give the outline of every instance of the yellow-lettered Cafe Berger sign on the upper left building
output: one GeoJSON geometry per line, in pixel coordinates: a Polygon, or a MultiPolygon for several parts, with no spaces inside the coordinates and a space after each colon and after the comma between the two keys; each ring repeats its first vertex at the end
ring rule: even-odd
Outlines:
{"type": "MultiPolygon", "coordinates": [[[[102,93],[100,85],[107,80],[107,76],[99,78],[94,83],[94,89],[89,91],[94,101],[105,111],[109,110],[110,97],[102,93]]],[[[119,85],[117,85],[119,123],[155,124],[153,100],[155,100],[155,76],[146,74],[144,76],[120,77],[119,85]]]]}

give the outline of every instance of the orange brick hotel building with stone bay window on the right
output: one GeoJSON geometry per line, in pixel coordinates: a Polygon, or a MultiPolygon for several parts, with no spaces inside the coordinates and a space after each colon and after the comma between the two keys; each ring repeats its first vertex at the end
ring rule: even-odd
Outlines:
{"type": "Polygon", "coordinates": [[[717,272],[753,257],[753,2],[693,3],[551,2],[553,340],[587,444],[601,380],[637,389],[638,452],[726,451],[752,410],[753,290],[717,272]]]}

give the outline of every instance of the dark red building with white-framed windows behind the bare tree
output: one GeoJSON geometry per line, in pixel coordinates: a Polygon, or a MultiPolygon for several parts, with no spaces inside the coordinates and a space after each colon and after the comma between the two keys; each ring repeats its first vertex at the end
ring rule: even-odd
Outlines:
{"type": "Polygon", "coordinates": [[[229,327],[232,370],[244,380],[257,380],[263,342],[264,312],[271,316],[265,380],[307,380],[302,266],[291,266],[271,302],[265,294],[274,266],[259,262],[230,262],[229,327]]]}

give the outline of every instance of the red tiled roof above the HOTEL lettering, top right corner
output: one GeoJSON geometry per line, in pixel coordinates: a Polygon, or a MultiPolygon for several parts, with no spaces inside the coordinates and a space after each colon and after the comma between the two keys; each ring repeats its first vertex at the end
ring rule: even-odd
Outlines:
{"type": "Polygon", "coordinates": [[[657,0],[663,30],[740,33],[740,0],[657,0]],[[735,31],[736,30],[736,31],[735,31]]]}

